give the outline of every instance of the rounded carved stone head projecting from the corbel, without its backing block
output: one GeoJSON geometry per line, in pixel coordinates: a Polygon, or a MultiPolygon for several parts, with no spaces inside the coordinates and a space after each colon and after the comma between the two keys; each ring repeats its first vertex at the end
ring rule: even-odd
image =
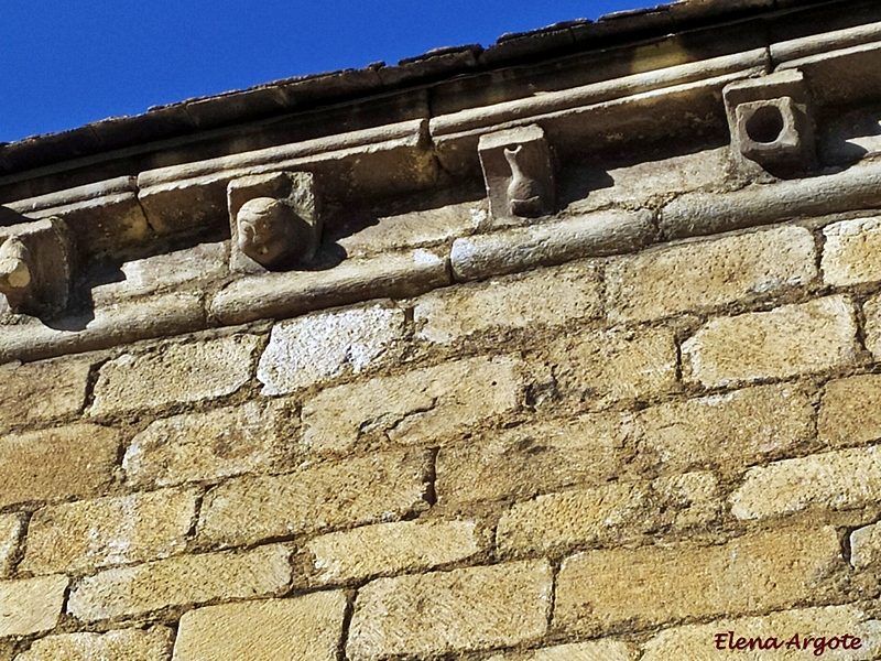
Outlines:
{"type": "Polygon", "coordinates": [[[297,221],[303,221],[282,201],[249,199],[239,209],[236,221],[239,248],[263,267],[273,267],[297,250],[297,221]]]}

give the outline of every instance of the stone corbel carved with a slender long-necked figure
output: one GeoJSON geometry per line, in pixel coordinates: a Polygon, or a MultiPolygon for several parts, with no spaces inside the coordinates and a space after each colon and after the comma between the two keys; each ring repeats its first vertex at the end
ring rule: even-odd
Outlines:
{"type": "Polygon", "coordinates": [[[553,213],[554,166],[541,127],[481,136],[478,152],[493,220],[537,218],[553,213]]]}

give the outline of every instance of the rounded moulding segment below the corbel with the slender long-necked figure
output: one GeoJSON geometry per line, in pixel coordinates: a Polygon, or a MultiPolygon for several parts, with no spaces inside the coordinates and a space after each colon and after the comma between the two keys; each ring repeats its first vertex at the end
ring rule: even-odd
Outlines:
{"type": "Polygon", "coordinates": [[[598,212],[456,239],[450,264],[459,282],[482,280],[583,257],[639,250],[654,241],[652,212],[598,212]]]}

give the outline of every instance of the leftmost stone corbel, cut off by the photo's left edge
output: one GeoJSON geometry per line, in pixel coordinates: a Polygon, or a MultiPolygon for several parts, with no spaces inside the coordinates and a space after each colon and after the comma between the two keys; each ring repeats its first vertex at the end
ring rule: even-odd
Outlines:
{"type": "Polygon", "coordinates": [[[0,227],[0,294],[13,313],[48,318],[66,308],[73,262],[70,232],[63,220],[0,227]]]}

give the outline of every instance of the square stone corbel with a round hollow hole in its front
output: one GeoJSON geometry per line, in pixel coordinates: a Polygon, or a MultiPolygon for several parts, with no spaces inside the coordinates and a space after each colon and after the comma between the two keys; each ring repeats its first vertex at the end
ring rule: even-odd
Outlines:
{"type": "Polygon", "coordinates": [[[801,72],[737,80],[722,96],[741,174],[787,176],[816,167],[813,107],[801,72]]]}

